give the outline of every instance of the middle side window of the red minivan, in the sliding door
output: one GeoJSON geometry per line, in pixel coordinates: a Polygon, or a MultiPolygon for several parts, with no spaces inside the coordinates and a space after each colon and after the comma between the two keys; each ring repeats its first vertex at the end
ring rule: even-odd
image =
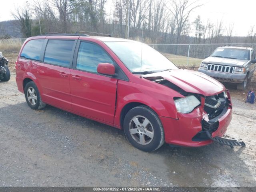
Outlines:
{"type": "Polygon", "coordinates": [[[72,40],[49,40],[44,54],[44,62],[69,67],[72,58],[72,40]]]}

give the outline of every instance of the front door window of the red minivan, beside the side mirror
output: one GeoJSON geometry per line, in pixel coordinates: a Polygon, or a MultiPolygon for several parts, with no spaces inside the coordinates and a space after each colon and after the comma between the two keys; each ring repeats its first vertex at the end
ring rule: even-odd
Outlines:
{"type": "Polygon", "coordinates": [[[76,68],[88,72],[97,72],[99,63],[114,64],[110,56],[100,46],[88,42],[81,42],[76,68]]]}

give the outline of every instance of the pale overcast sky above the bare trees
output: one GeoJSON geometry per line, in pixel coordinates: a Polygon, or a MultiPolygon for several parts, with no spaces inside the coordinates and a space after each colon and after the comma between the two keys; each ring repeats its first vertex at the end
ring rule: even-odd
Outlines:
{"type": "MultiPolygon", "coordinates": [[[[0,21],[12,20],[11,11],[15,6],[24,5],[29,0],[1,0],[0,21]]],[[[112,0],[108,0],[107,13],[112,0]]],[[[224,28],[234,23],[233,36],[247,36],[250,26],[256,27],[256,0],[199,0],[204,6],[190,15],[190,22],[200,15],[204,22],[224,23],[224,28]]]]}

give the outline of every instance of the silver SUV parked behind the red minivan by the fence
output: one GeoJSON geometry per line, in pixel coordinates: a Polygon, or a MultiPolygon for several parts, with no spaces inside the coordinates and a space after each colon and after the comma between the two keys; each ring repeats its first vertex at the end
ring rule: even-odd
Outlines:
{"type": "Polygon", "coordinates": [[[238,90],[245,90],[252,79],[256,63],[253,48],[222,46],[205,58],[198,71],[221,82],[236,83],[238,90]]]}

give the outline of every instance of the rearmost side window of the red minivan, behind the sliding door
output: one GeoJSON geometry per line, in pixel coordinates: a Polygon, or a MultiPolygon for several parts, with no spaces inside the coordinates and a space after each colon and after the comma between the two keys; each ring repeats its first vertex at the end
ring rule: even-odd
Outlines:
{"type": "Polygon", "coordinates": [[[20,56],[26,59],[40,60],[43,43],[44,39],[30,40],[24,46],[20,56]]]}

